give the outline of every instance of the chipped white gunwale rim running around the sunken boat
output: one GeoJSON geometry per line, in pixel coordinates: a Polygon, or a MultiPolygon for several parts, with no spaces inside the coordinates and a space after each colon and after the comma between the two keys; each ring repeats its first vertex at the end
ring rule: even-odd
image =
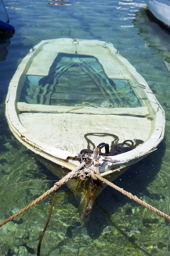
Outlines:
{"type": "MultiPolygon", "coordinates": [[[[31,57],[33,57],[35,50],[38,49],[42,44],[46,44],[49,42],[56,42],[56,41],[64,41],[65,38],[61,39],[52,39],[52,40],[44,40],[41,41],[39,44],[37,44],[33,49],[30,50],[30,52],[26,55],[25,58],[23,58],[23,61],[20,63],[20,65],[17,68],[17,71],[15,72],[10,84],[9,84],[9,91],[6,97],[6,118],[9,123],[9,127],[14,134],[15,137],[17,137],[18,140],[20,140],[23,145],[25,145],[30,150],[34,151],[36,154],[39,154],[42,157],[45,157],[48,160],[51,160],[54,163],[63,165],[64,167],[68,169],[73,169],[75,166],[78,166],[78,161],[73,160],[66,160],[67,157],[75,157],[78,156],[76,153],[71,153],[69,151],[64,151],[59,148],[55,148],[54,146],[48,145],[40,140],[38,140],[36,137],[34,137],[31,133],[29,133],[26,128],[21,124],[18,114],[17,114],[17,87],[20,80],[20,77],[22,76],[24,70],[26,69],[26,64],[30,60],[31,57]],[[17,86],[16,86],[17,84],[17,86]],[[17,124],[19,122],[19,124],[17,124]],[[19,127],[17,127],[17,126],[19,127]],[[31,135],[31,136],[30,136],[31,135]],[[31,140],[30,140],[31,138],[31,140]]],[[[70,41],[70,38],[69,38],[70,41]]],[[[86,42],[89,40],[79,40],[81,42],[86,42]]],[[[90,40],[90,44],[93,40],[90,40]]],[[[153,151],[157,145],[161,142],[161,140],[164,137],[164,125],[165,125],[165,117],[164,117],[164,110],[159,105],[155,95],[150,90],[149,86],[147,85],[144,78],[138,74],[135,70],[135,67],[133,67],[127,59],[125,59],[123,56],[116,54],[117,50],[113,47],[112,44],[94,40],[93,42],[98,42],[100,44],[107,44],[107,47],[109,49],[110,55],[116,56],[118,61],[120,61],[121,64],[123,64],[126,68],[128,73],[135,78],[135,80],[140,83],[144,84],[146,86],[147,91],[145,90],[144,93],[147,96],[147,99],[153,109],[154,113],[154,129],[152,130],[152,134],[150,137],[138,148],[133,149],[132,151],[116,155],[114,157],[101,157],[100,162],[104,162],[104,166],[101,167],[101,175],[108,175],[114,172],[113,169],[114,166],[121,166],[124,165],[124,167],[129,166],[132,164],[132,162],[136,163],[138,160],[141,159],[141,157],[144,157],[145,155],[149,154],[151,151],[153,151]],[[116,54],[116,55],[115,55],[116,54]],[[129,69],[130,67],[130,69],[129,69]]],[[[119,168],[117,168],[119,169],[119,168]]]]}

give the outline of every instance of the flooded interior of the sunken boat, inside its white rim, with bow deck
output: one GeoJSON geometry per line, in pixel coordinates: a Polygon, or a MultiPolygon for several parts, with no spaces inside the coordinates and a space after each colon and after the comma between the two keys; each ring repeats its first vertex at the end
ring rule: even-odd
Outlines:
{"type": "Polygon", "coordinates": [[[116,54],[89,48],[54,54],[49,43],[37,50],[19,81],[20,122],[37,139],[72,153],[102,142],[146,141],[154,113],[145,84],[116,54]]]}

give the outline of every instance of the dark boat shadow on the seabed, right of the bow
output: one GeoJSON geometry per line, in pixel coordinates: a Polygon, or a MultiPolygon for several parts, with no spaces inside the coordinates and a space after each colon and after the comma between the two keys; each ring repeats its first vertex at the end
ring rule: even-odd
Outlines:
{"type": "MultiPolygon", "coordinates": [[[[147,186],[160,171],[164,153],[165,143],[163,140],[156,151],[130,167],[124,174],[114,180],[113,183],[127,192],[136,195],[138,198],[142,198],[142,196],[145,195],[153,199],[153,201],[160,200],[161,195],[157,193],[151,194],[149,190],[147,190],[147,186]]],[[[132,208],[136,207],[138,204],[115,189],[107,186],[98,196],[93,206],[89,222],[86,224],[89,236],[93,239],[97,239],[104,229],[104,225],[100,225],[100,223],[105,223],[106,225],[112,225],[126,237],[126,233],[118,227],[116,220],[113,221],[111,216],[127,203],[130,204],[130,207],[124,212],[126,216],[131,215],[132,208]]]]}

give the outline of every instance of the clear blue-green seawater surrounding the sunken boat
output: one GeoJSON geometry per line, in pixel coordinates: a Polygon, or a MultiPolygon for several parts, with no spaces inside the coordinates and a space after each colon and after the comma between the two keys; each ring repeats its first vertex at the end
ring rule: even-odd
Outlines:
{"type": "MultiPolygon", "coordinates": [[[[44,39],[111,42],[146,79],[166,114],[163,142],[114,183],[170,215],[170,35],[143,0],[5,0],[13,36],[0,35],[0,221],[49,189],[51,174],[9,131],[5,98],[29,49],[44,39]],[[53,3],[53,4],[51,4],[53,3]]],[[[0,228],[0,255],[36,255],[52,195],[0,228]]],[[[42,241],[42,256],[170,256],[170,223],[107,187],[82,225],[75,197],[62,187],[42,241]]]]}

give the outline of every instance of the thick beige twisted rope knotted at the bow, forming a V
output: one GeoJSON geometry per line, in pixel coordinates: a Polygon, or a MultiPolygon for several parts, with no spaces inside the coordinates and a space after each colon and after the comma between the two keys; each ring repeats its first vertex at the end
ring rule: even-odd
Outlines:
{"type": "Polygon", "coordinates": [[[23,209],[21,209],[20,211],[14,213],[11,217],[7,218],[5,221],[0,222],[0,227],[2,227],[4,224],[6,224],[7,222],[11,221],[12,219],[14,219],[15,217],[17,217],[18,215],[20,215],[21,213],[25,212],[27,209],[29,209],[30,207],[34,206],[35,204],[37,204],[38,202],[40,202],[41,200],[43,200],[43,198],[46,198],[47,195],[49,195],[50,193],[52,193],[53,191],[57,191],[63,184],[65,184],[67,181],[72,180],[74,178],[76,179],[81,179],[81,180],[85,180],[86,177],[92,177],[92,179],[98,179],[101,180],[101,182],[106,183],[107,185],[111,186],[112,188],[116,189],[117,191],[121,192],[123,195],[126,195],[128,198],[133,199],[135,202],[137,202],[138,204],[141,204],[142,206],[146,207],[147,209],[149,209],[150,211],[155,212],[156,214],[158,214],[159,216],[165,218],[167,221],[170,221],[170,216],[168,216],[167,214],[165,214],[164,212],[159,211],[158,209],[156,209],[155,207],[151,206],[150,204],[147,204],[146,202],[142,201],[141,199],[139,199],[137,196],[132,195],[130,192],[125,191],[124,189],[116,186],[115,184],[111,183],[109,180],[104,179],[103,177],[101,177],[100,174],[98,174],[98,168],[95,167],[94,165],[92,166],[86,166],[86,163],[83,162],[81,163],[78,167],[76,167],[75,169],[72,170],[72,172],[69,172],[65,177],[63,177],[60,181],[56,182],[54,184],[54,186],[47,190],[45,193],[43,193],[43,195],[41,195],[39,198],[35,199],[35,201],[33,201],[31,204],[27,205],[26,207],[24,207],[23,209]]]}

